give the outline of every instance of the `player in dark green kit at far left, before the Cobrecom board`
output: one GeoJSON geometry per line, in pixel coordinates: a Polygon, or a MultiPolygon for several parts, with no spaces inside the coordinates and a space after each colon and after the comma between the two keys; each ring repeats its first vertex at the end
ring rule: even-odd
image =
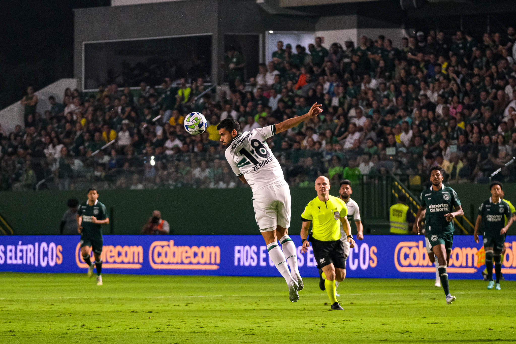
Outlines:
{"type": "Polygon", "coordinates": [[[97,270],[97,285],[102,285],[102,224],[108,224],[106,206],[99,202],[96,189],[88,190],[88,201],[77,209],[77,232],[80,234],[80,253],[88,264],[88,277],[93,275],[90,252],[93,250],[97,270]]]}

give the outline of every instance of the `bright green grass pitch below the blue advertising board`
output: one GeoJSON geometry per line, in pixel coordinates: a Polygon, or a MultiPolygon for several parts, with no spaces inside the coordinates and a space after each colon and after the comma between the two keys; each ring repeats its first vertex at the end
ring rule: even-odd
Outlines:
{"type": "Polygon", "coordinates": [[[344,312],[317,279],[0,273],[0,343],[488,343],[516,341],[516,282],[348,279],[344,312]]]}

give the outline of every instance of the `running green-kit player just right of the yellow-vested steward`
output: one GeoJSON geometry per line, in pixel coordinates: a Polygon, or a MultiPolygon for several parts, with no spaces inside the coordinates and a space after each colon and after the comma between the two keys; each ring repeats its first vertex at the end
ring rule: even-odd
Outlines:
{"type": "Polygon", "coordinates": [[[425,216],[425,235],[432,247],[433,255],[428,255],[433,263],[437,258],[439,263],[439,277],[446,295],[446,303],[455,301],[451,296],[448,286],[448,274],[446,267],[449,263],[451,245],[453,244],[453,232],[455,230],[453,219],[464,215],[459,198],[454,189],[443,184],[444,171],[435,166],[430,170],[430,182],[432,186],[421,192],[421,207],[417,210],[413,231],[419,234],[420,222],[425,216]],[[453,207],[457,210],[452,211],[453,207]]]}

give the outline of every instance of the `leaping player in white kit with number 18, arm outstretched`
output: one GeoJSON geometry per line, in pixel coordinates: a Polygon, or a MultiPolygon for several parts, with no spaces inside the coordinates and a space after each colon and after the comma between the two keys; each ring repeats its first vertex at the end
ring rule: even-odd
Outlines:
{"type": "Polygon", "coordinates": [[[291,195],[280,163],[265,141],[314,118],[322,112],[320,107],[315,103],[303,116],[251,132],[242,133],[240,125],[233,118],[224,119],[217,125],[220,141],[227,146],[225,157],[229,165],[240,181],[251,187],[256,223],[267,244],[270,259],[287,282],[288,297],[292,302],[299,300],[298,290],[303,289],[303,280],[297,266],[296,245],[287,231],[290,226],[291,195]],[[281,249],[277,243],[278,237],[281,249]],[[287,261],[291,271],[288,270],[287,261]]]}

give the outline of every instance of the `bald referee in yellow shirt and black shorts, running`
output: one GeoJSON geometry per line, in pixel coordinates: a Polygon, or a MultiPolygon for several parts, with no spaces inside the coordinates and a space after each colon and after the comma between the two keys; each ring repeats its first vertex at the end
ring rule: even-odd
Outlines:
{"type": "Polygon", "coordinates": [[[346,268],[344,258],[344,245],[341,238],[341,221],[344,232],[347,235],[349,247],[354,247],[351,236],[351,227],[347,219],[348,208],[344,201],[330,195],[330,181],[324,176],[315,179],[317,197],[310,201],[301,214],[303,225],[301,227],[301,252],[305,253],[312,243],[317,265],[322,269],[322,277],[325,279],[325,288],[332,303],[331,309],[344,310],[337,302],[335,296],[335,280],[342,282],[346,268]],[[312,232],[308,235],[310,222],[314,222],[312,232]]]}

